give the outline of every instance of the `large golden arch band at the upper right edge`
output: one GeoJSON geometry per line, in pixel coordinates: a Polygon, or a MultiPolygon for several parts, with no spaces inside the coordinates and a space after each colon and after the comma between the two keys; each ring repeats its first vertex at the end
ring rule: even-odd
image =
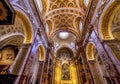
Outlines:
{"type": "Polygon", "coordinates": [[[99,34],[103,40],[112,40],[114,36],[112,34],[112,20],[116,12],[120,9],[120,2],[115,0],[110,2],[108,6],[103,10],[103,14],[99,21],[99,34]],[[112,10],[112,11],[111,11],[112,10]]]}

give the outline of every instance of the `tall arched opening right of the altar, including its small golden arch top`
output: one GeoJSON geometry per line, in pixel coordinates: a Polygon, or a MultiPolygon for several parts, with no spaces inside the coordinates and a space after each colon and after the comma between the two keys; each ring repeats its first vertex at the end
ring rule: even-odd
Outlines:
{"type": "Polygon", "coordinates": [[[93,43],[88,43],[86,46],[87,60],[91,69],[91,73],[95,84],[106,84],[104,79],[104,64],[98,54],[98,51],[93,43]]]}

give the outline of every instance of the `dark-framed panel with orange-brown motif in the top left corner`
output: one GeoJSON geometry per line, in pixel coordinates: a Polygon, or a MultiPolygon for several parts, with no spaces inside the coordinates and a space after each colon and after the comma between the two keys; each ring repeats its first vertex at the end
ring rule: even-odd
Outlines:
{"type": "Polygon", "coordinates": [[[8,0],[0,1],[0,25],[13,24],[15,11],[8,0]]]}

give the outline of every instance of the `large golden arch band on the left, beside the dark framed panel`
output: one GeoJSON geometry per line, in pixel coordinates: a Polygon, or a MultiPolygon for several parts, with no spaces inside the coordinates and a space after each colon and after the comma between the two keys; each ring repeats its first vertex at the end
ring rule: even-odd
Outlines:
{"type": "Polygon", "coordinates": [[[16,18],[21,22],[25,33],[24,43],[31,43],[33,39],[33,30],[27,16],[21,11],[16,10],[16,18]]]}

